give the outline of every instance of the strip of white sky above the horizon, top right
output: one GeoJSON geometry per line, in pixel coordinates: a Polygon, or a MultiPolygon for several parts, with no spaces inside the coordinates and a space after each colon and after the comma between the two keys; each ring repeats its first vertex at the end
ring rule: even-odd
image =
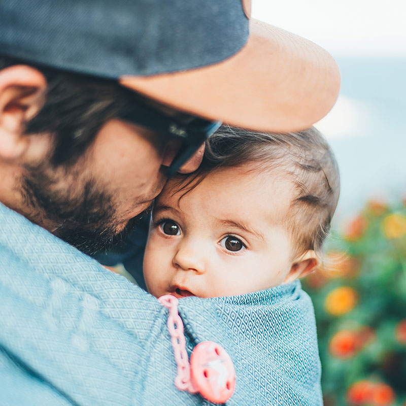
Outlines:
{"type": "Polygon", "coordinates": [[[252,16],[308,38],[334,57],[406,57],[404,0],[253,0],[252,16]]]}

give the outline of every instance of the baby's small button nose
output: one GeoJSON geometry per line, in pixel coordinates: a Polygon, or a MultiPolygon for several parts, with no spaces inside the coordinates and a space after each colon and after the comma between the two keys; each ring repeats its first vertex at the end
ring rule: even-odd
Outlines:
{"type": "Polygon", "coordinates": [[[206,261],[208,250],[198,241],[183,242],[178,246],[176,254],[172,260],[175,267],[183,270],[193,270],[197,274],[206,272],[206,261]]]}

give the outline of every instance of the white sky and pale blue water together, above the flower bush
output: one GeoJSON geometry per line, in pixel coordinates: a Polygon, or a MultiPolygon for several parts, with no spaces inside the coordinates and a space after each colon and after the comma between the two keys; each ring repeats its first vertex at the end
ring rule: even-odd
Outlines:
{"type": "Polygon", "coordinates": [[[337,215],[406,196],[406,2],[253,0],[252,16],[319,44],[339,64],[339,98],[315,124],[339,162],[337,215]]]}

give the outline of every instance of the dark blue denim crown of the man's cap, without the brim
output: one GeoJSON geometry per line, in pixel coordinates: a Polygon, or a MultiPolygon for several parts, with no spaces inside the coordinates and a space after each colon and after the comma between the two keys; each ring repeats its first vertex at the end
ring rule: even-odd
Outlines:
{"type": "Polygon", "coordinates": [[[109,79],[219,62],[246,43],[241,0],[5,0],[0,53],[109,79]]]}

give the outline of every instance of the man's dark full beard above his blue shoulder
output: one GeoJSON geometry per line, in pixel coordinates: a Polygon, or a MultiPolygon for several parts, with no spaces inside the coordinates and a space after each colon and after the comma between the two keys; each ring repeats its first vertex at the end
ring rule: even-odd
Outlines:
{"type": "Polygon", "coordinates": [[[122,222],[115,220],[112,196],[96,187],[94,180],[84,181],[79,194],[76,185],[76,193],[73,187],[58,187],[59,180],[45,165],[27,166],[21,187],[28,211],[23,214],[41,226],[55,224],[49,231],[85,254],[109,251],[124,241],[128,232],[147,214],[144,211],[122,228],[122,222]]]}

